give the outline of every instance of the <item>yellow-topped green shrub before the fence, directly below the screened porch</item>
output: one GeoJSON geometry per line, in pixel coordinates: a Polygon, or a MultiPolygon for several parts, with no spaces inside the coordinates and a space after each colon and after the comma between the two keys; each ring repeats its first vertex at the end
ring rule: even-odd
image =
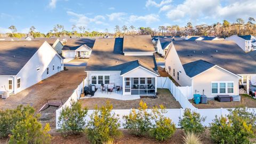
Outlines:
{"type": "Polygon", "coordinates": [[[129,129],[131,133],[142,136],[148,134],[151,129],[151,113],[147,111],[147,104],[140,101],[138,111],[132,109],[129,115],[124,116],[125,123],[123,124],[125,129],[129,129]]]}

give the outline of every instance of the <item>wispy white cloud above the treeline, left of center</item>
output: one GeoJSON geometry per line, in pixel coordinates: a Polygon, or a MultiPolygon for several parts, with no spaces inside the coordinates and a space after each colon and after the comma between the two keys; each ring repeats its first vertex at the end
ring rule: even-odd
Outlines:
{"type": "Polygon", "coordinates": [[[106,19],[103,15],[97,15],[94,18],[88,18],[84,14],[78,14],[71,11],[67,11],[67,14],[73,17],[69,21],[75,23],[77,27],[87,27],[91,22],[94,22],[95,24],[103,24],[103,20],[106,19]]]}

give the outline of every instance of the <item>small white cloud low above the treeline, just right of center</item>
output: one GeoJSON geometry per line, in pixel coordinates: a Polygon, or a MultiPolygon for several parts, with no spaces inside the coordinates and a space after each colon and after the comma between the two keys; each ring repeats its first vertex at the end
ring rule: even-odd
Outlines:
{"type": "Polygon", "coordinates": [[[159,16],[156,14],[148,14],[144,16],[130,15],[129,22],[144,21],[146,24],[150,24],[159,21],[159,16]]]}

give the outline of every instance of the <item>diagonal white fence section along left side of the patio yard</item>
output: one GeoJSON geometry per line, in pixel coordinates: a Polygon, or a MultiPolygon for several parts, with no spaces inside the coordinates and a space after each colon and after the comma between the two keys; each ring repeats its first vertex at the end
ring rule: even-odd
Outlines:
{"type": "Polygon", "coordinates": [[[84,86],[87,86],[86,84],[87,82],[87,77],[84,79],[84,84],[83,84],[83,81],[77,86],[77,88],[74,90],[74,92],[71,94],[71,96],[68,98],[68,100],[62,104],[62,106],[57,109],[55,111],[56,113],[56,129],[57,129],[57,126],[58,126],[58,120],[59,120],[59,116],[60,116],[60,112],[63,108],[65,107],[70,107],[71,106],[71,101],[78,101],[79,98],[80,98],[80,95],[82,93],[82,89],[83,89],[83,85],[84,86]]]}

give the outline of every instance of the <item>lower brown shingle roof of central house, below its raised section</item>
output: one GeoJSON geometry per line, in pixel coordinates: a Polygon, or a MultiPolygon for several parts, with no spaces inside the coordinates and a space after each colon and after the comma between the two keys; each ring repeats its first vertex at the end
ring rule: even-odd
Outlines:
{"type": "MultiPolygon", "coordinates": [[[[86,71],[129,71],[138,65],[157,73],[154,55],[127,56],[123,54],[123,38],[96,39],[86,71]]],[[[158,74],[158,73],[157,73],[158,74]]]]}

